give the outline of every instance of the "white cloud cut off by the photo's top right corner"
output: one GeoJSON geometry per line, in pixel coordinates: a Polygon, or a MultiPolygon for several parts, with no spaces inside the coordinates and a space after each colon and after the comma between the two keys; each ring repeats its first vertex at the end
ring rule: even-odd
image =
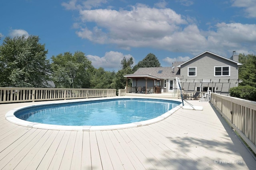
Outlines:
{"type": "Polygon", "coordinates": [[[256,18],[256,1],[255,0],[232,0],[232,6],[244,8],[248,18],[256,18]]]}

